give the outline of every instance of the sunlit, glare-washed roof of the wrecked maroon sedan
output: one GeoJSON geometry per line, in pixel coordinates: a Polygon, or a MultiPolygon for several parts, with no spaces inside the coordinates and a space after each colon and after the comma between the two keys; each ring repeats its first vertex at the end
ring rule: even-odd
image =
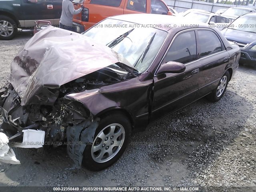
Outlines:
{"type": "MultiPolygon", "coordinates": [[[[203,22],[193,21],[192,19],[176,17],[170,15],[160,15],[160,14],[124,14],[118,16],[110,17],[112,19],[123,20],[127,22],[132,22],[135,24],[150,24],[154,28],[168,31],[174,28],[183,28],[182,25],[197,24],[198,27],[209,28],[209,25],[204,24],[203,22]],[[164,26],[165,24],[171,26],[164,26]]],[[[188,27],[189,28],[189,27],[188,27]]]]}

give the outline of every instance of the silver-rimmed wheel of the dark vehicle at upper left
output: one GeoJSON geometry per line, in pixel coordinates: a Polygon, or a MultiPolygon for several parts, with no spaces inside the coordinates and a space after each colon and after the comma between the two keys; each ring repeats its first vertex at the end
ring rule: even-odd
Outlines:
{"type": "Polygon", "coordinates": [[[11,40],[17,32],[16,22],[8,16],[0,15],[0,40],[11,40]]]}

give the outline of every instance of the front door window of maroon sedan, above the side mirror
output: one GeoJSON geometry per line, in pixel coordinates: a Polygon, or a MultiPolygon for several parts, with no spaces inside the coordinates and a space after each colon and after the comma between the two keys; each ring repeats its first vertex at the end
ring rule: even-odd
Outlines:
{"type": "Polygon", "coordinates": [[[196,35],[194,31],[180,34],[166,55],[166,62],[176,61],[183,64],[196,60],[196,35]]]}

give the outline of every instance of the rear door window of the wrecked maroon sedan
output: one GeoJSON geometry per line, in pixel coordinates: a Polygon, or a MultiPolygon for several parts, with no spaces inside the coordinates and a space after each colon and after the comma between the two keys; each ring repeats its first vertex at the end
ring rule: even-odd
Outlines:
{"type": "Polygon", "coordinates": [[[198,30],[198,44],[200,47],[200,58],[222,51],[218,36],[209,30],[198,30]]]}

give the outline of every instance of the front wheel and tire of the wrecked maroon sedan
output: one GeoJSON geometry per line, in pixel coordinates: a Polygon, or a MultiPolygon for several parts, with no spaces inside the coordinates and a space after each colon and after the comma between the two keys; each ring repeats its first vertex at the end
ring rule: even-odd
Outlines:
{"type": "Polygon", "coordinates": [[[124,153],[130,139],[132,125],[122,113],[103,116],[92,144],[86,145],[82,166],[92,171],[114,164],[124,153]]]}

